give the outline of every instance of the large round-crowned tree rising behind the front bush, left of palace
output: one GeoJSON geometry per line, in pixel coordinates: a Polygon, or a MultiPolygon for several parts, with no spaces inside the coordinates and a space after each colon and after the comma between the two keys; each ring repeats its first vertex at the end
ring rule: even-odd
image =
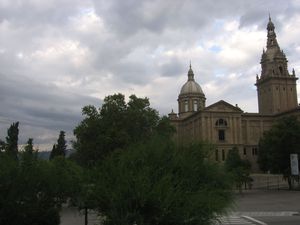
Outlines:
{"type": "Polygon", "coordinates": [[[114,94],[105,97],[102,107],[85,106],[82,110],[85,118],[75,128],[77,150],[73,155],[82,165],[95,165],[116,149],[145,141],[155,133],[172,130],[166,118],[160,119],[158,112],[150,107],[148,98],[129,97],[114,94]]]}

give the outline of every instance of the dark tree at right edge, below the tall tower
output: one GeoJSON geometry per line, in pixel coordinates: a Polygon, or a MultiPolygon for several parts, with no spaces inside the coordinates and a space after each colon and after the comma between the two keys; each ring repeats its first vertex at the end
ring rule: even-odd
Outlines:
{"type": "Polygon", "coordinates": [[[278,120],[259,141],[258,164],[263,171],[281,173],[292,188],[290,154],[300,153],[300,122],[296,117],[278,120]]]}

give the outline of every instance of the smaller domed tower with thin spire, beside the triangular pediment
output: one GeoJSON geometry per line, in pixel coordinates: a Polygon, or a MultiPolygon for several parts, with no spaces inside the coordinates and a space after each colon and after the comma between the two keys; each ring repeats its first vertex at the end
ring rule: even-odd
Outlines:
{"type": "Polygon", "coordinates": [[[200,85],[194,79],[194,72],[190,64],[188,80],[182,86],[178,96],[179,118],[184,118],[205,108],[205,95],[200,85]]]}

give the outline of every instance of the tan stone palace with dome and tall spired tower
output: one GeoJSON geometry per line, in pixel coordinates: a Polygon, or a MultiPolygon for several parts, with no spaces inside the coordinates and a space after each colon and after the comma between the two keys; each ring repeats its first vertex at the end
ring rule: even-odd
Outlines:
{"type": "MultiPolygon", "coordinates": [[[[289,74],[287,58],[280,49],[275,26],[269,18],[267,46],[261,56],[261,74],[256,76],[258,113],[245,113],[237,105],[220,100],[206,106],[206,97],[189,68],[187,81],[178,96],[178,114],[169,114],[177,132],[178,143],[209,141],[216,146],[214,157],[224,161],[229,149],[237,147],[240,155],[259,171],[258,142],[264,131],[281,117],[295,115],[300,119],[295,71],[289,74]]],[[[255,79],[255,77],[254,77],[255,79]]]]}

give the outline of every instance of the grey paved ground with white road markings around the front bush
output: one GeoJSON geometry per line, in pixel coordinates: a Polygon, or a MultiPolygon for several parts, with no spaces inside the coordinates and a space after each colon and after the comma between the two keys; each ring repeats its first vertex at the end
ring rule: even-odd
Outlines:
{"type": "MultiPolygon", "coordinates": [[[[300,192],[251,190],[236,194],[236,203],[218,225],[299,225],[300,192]]],[[[62,225],[84,225],[84,216],[75,209],[64,209],[62,225]]],[[[89,225],[96,215],[89,215],[89,225]]]]}

